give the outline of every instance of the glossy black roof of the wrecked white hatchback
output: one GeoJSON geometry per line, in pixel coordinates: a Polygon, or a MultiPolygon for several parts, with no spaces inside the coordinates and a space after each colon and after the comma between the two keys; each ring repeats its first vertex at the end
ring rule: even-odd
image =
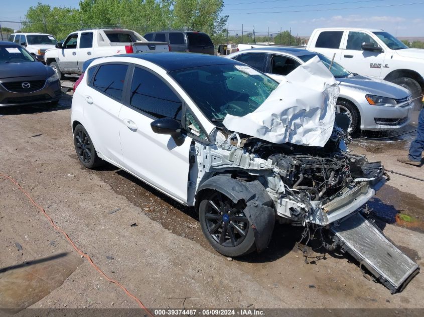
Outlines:
{"type": "Polygon", "coordinates": [[[168,72],[200,67],[209,65],[222,65],[222,64],[233,64],[233,65],[244,65],[240,62],[226,59],[220,56],[197,54],[197,53],[186,53],[186,52],[157,52],[157,53],[138,53],[138,54],[122,54],[116,55],[119,57],[130,57],[145,60],[159,67],[165,69],[168,72]]]}

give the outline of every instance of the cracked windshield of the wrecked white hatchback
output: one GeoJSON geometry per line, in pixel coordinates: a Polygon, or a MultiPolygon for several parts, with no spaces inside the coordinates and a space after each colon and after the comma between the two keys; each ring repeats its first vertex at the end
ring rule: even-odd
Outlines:
{"type": "Polygon", "coordinates": [[[171,72],[204,115],[221,125],[227,114],[255,111],[278,86],[273,79],[245,65],[211,65],[171,72]]]}

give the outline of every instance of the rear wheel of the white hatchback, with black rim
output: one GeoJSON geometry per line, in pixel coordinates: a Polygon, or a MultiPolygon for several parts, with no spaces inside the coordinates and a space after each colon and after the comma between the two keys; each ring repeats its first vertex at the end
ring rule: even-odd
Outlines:
{"type": "Polygon", "coordinates": [[[97,156],[93,142],[81,124],[74,129],[74,145],[77,157],[83,166],[94,168],[101,165],[102,160],[97,156]]]}

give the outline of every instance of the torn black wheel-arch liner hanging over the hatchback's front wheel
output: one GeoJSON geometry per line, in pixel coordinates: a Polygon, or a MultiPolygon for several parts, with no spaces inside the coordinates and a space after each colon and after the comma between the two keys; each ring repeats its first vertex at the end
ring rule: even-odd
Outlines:
{"type": "MultiPolygon", "coordinates": [[[[245,182],[221,174],[206,180],[197,190],[196,198],[201,197],[205,189],[217,190],[234,203],[244,200],[243,212],[249,219],[255,236],[256,249],[263,251],[268,246],[275,225],[275,208],[263,185],[258,181],[245,182]]],[[[196,209],[200,199],[196,199],[196,209]]]]}

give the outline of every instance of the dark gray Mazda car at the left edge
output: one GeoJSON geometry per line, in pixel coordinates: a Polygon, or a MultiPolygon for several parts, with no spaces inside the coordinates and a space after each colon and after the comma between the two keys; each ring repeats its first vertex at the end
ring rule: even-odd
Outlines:
{"type": "Polygon", "coordinates": [[[59,77],[19,44],[0,41],[0,107],[57,104],[59,77]]]}

